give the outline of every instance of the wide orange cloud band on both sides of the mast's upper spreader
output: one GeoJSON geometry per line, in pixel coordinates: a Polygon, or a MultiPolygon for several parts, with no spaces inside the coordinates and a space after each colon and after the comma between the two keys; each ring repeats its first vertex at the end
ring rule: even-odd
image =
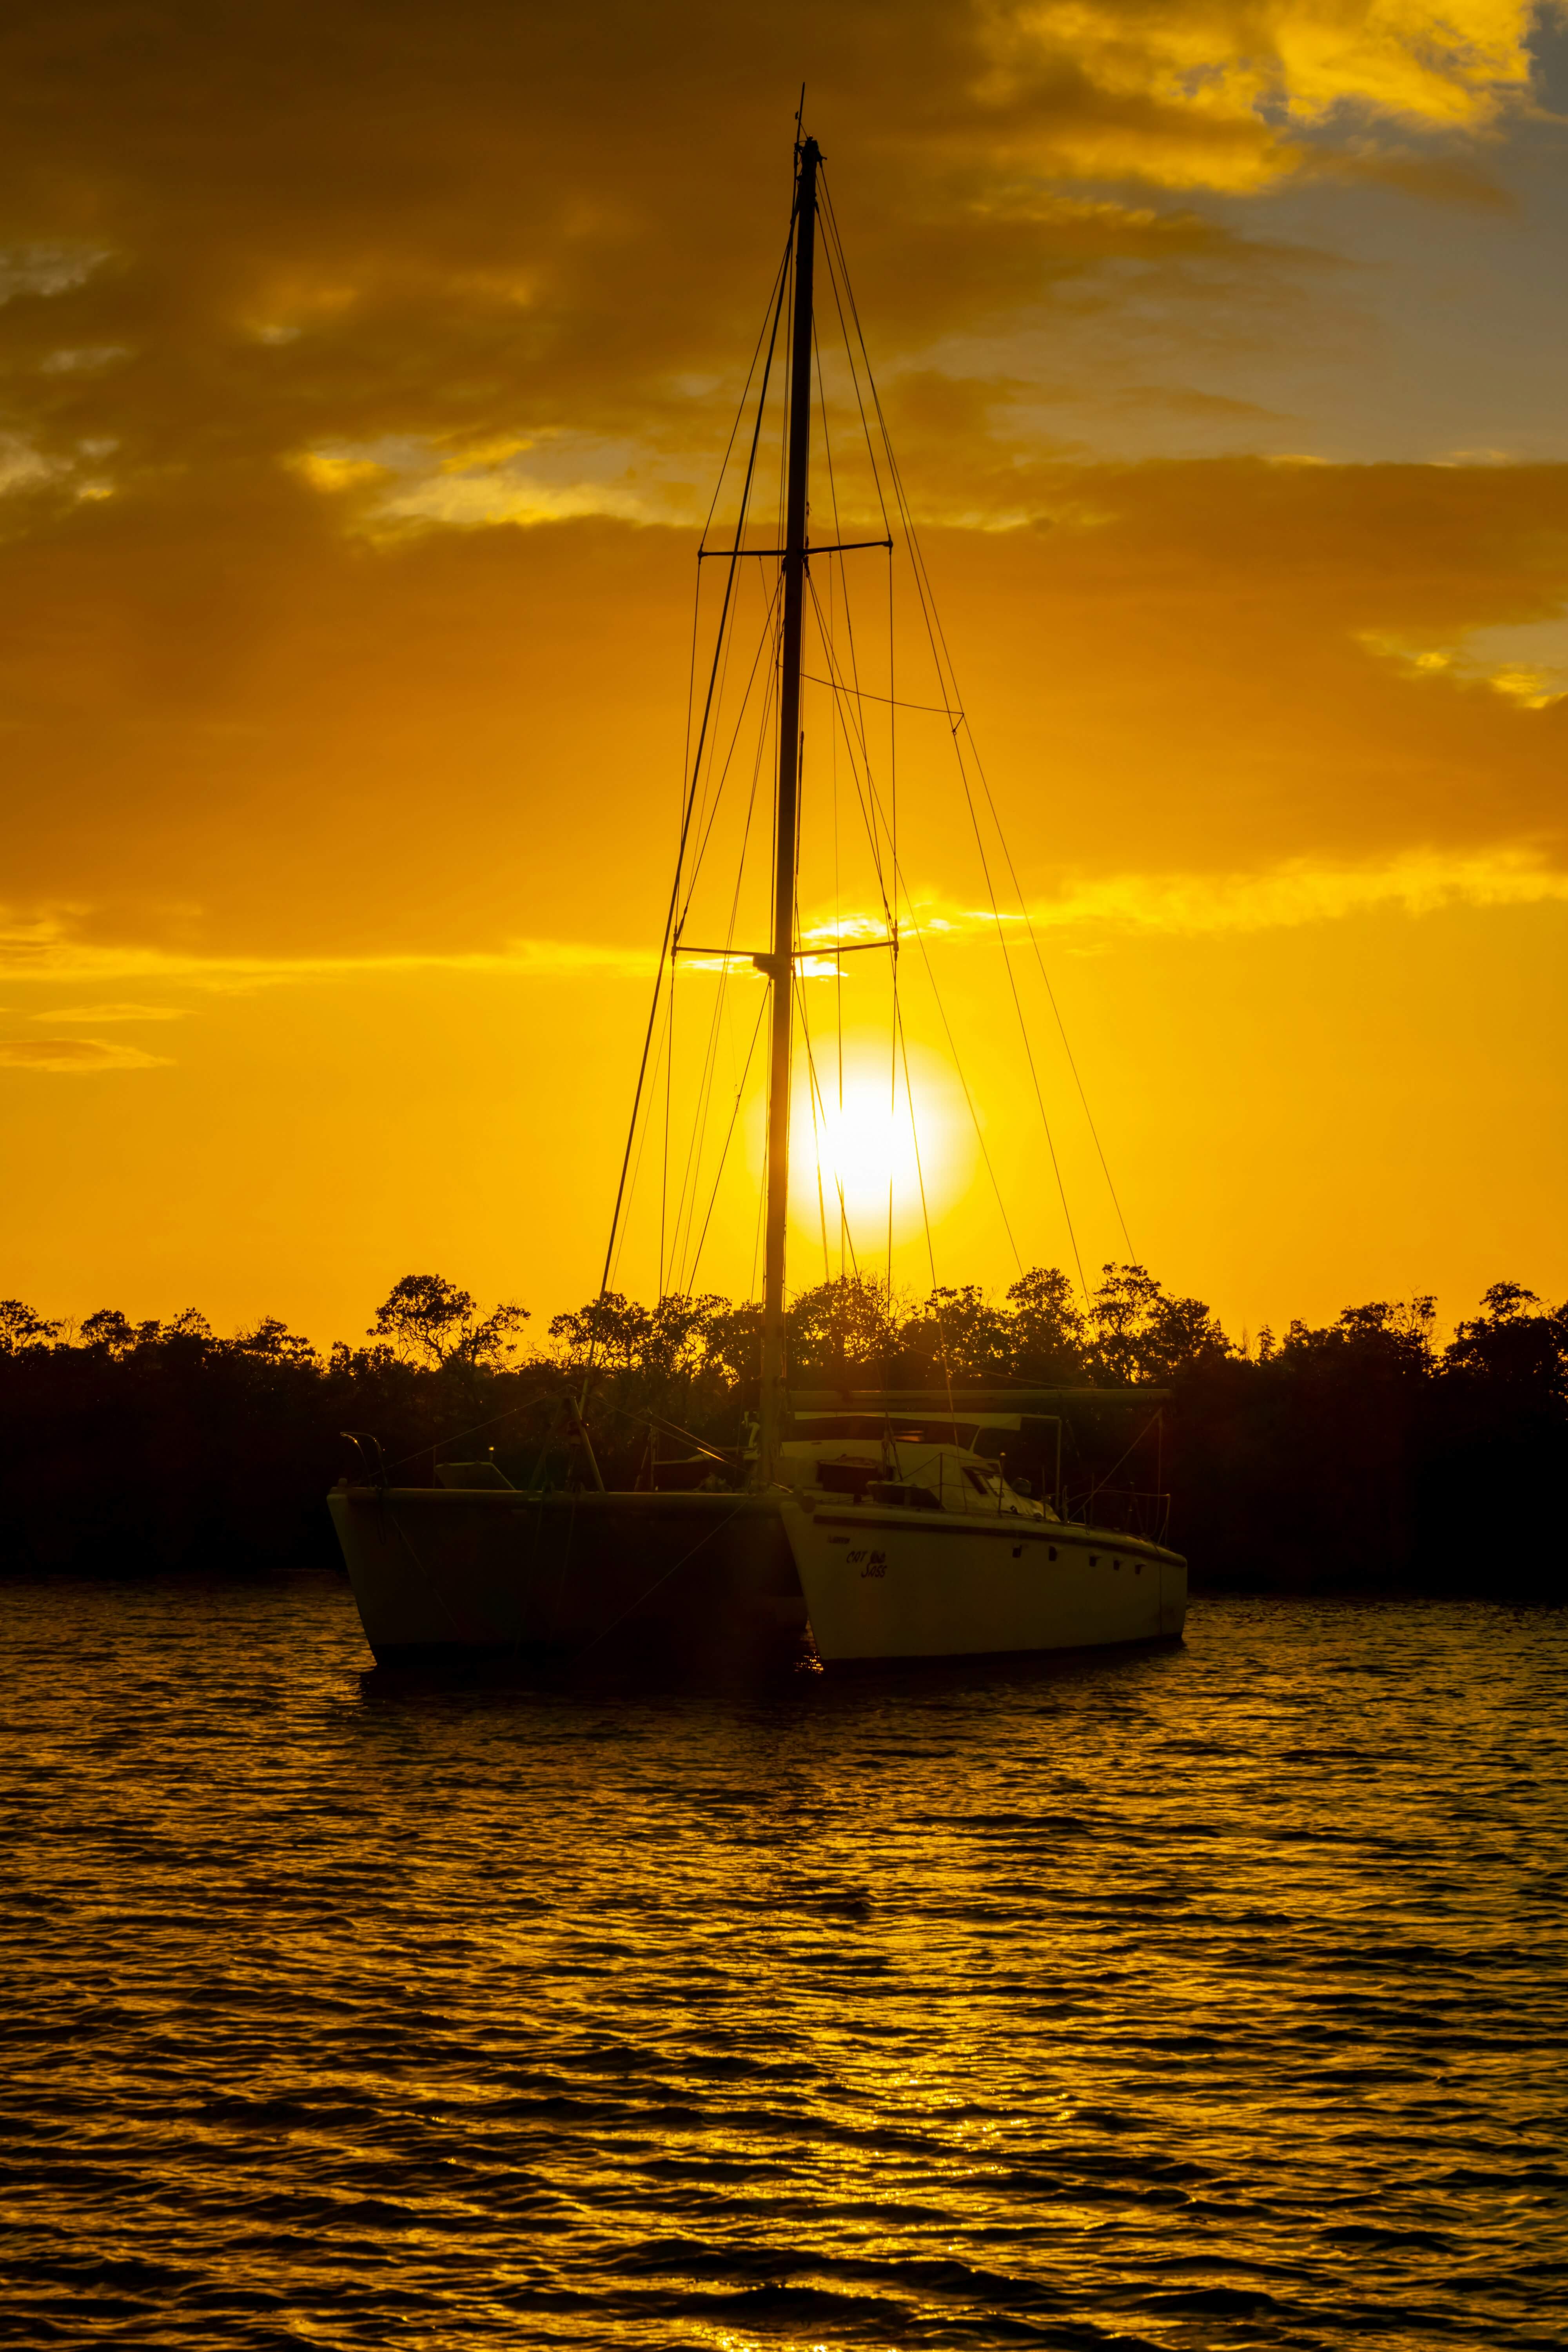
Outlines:
{"type": "MultiPolygon", "coordinates": [[[[903,423],[919,477],[952,419],[903,423]]],[[[964,463],[978,503],[1006,475],[1034,517],[933,529],[929,557],[1041,882],[1561,854],[1568,701],[1415,656],[1563,607],[1568,468],[964,463]]],[[[691,534],[371,546],[327,506],[193,496],[153,536],[108,501],[0,553],[12,896],[205,953],[642,938],[691,534]]]]}

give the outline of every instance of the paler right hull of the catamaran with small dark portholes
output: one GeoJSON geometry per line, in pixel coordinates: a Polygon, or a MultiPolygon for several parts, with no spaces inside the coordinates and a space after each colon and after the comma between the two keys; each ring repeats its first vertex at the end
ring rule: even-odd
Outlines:
{"type": "Polygon", "coordinates": [[[1173,1642],[1187,1562],[1093,1526],[783,1505],[825,1665],[1173,1642]]]}

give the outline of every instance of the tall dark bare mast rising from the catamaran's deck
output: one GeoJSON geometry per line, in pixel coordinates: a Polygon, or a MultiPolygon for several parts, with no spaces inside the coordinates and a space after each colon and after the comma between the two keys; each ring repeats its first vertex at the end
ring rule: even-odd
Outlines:
{"type": "Polygon", "coordinates": [[[785,496],[785,626],[778,673],[778,821],[773,828],[773,1054],[769,1063],[769,1223],[762,1275],[762,1479],[778,1468],[785,1409],[785,1216],[790,1209],[790,1033],[795,1025],[795,844],[799,830],[799,633],[806,602],[806,482],[811,475],[811,263],[816,256],[816,139],[795,169],[795,325],[790,341],[790,482],[785,496]]]}

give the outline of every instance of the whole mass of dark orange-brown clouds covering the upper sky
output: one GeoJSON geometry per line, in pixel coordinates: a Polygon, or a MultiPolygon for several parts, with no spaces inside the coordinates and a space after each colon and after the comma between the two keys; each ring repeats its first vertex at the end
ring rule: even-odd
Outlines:
{"type": "MultiPolygon", "coordinates": [[[[1382,75],[1389,141],[1366,92],[1354,136],[1333,87],[1305,92],[1309,134],[1284,111],[1288,35],[1324,9],[1338,26],[1328,0],[12,7],[14,901],[205,950],[642,936],[689,536],[388,536],[388,482],[482,473],[527,437],[545,463],[571,435],[625,445],[604,468],[639,482],[658,461],[708,480],[783,242],[802,73],[1004,767],[1032,779],[1048,750],[1039,842],[1154,866],[1552,842],[1561,713],[1396,654],[1556,609],[1561,470],[1070,468],[1037,414],[1051,386],[1004,348],[1053,303],[1276,332],[1324,256],[1192,191],[1403,169],[1441,106],[1486,127],[1521,9],[1467,0],[1479,66],[1366,9],[1340,96],[1382,75]],[[393,473],[331,492],[310,452],[393,473]],[[957,529],[997,520],[1023,527],[957,529]]],[[[1295,47],[1321,80],[1321,42],[1295,47]]],[[[1260,416],[1204,386],[1105,388],[1133,400],[1260,416]]]]}

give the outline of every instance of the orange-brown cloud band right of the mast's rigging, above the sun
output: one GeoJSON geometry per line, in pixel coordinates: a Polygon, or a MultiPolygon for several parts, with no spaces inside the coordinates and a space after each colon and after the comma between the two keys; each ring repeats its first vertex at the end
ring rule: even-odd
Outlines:
{"type": "Polygon", "coordinates": [[[966,694],[1065,863],[1568,861],[1568,699],[1418,666],[1563,614],[1568,468],[1081,468],[1041,524],[954,536],[947,583],[966,694]]]}

